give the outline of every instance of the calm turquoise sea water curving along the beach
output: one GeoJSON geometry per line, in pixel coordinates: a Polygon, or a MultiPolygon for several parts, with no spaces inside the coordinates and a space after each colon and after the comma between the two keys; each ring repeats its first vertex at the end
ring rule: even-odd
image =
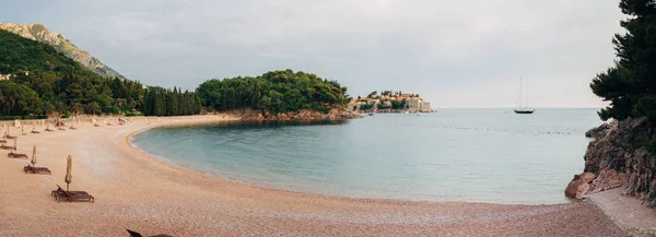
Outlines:
{"type": "Polygon", "coordinates": [[[584,167],[596,109],[442,109],[343,122],[164,128],[133,143],[268,188],[418,201],[560,203],[584,167]]]}

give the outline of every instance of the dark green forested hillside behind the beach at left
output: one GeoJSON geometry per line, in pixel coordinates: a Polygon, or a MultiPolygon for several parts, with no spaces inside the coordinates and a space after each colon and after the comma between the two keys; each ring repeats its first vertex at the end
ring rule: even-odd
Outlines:
{"type": "Polygon", "coordinates": [[[159,96],[157,115],[191,115],[200,111],[196,93],[149,90],[124,79],[105,79],[58,52],[50,45],[0,31],[0,115],[125,114],[147,110],[151,96],[159,96]],[[171,105],[169,105],[171,104],[171,105]],[[175,106],[173,106],[175,104],[175,106]],[[190,108],[180,108],[190,106],[190,108]]]}

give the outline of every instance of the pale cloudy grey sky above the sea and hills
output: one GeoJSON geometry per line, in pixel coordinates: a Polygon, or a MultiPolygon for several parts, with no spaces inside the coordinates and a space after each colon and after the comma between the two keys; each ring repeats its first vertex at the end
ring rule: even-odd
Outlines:
{"type": "Polygon", "coordinates": [[[10,0],[0,22],[42,23],[129,79],[195,90],[293,69],[352,96],[420,94],[433,107],[601,107],[618,0],[10,0]],[[528,94],[528,96],[526,96],[528,94]]]}

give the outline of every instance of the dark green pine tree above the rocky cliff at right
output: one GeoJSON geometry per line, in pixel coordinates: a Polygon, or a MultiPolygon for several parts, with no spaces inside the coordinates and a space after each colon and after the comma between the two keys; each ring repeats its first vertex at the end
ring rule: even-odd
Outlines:
{"type": "Polygon", "coordinates": [[[646,116],[656,119],[656,8],[653,0],[621,0],[626,29],[612,43],[619,60],[590,84],[611,105],[598,114],[604,120],[646,116]]]}

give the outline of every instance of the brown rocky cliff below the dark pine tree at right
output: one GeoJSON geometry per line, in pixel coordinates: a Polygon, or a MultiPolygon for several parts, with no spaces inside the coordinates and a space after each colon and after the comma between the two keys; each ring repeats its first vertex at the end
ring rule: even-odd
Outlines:
{"type": "Polygon", "coordinates": [[[625,119],[590,130],[585,169],[567,186],[565,195],[586,194],[623,188],[623,194],[656,205],[656,123],[646,118],[625,119]]]}

